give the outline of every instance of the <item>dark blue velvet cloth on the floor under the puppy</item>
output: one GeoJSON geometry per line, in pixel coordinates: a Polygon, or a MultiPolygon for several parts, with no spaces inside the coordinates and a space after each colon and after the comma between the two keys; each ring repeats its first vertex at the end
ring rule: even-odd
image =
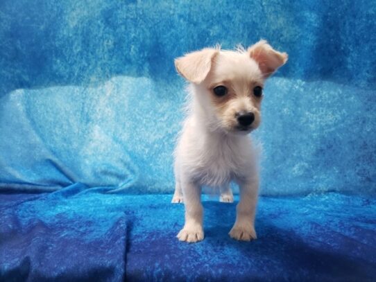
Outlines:
{"type": "Polygon", "coordinates": [[[180,243],[182,204],[74,184],[0,195],[0,281],[375,281],[376,200],[261,197],[258,239],[228,236],[235,204],[204,197],[205,240],[180,243]]]}

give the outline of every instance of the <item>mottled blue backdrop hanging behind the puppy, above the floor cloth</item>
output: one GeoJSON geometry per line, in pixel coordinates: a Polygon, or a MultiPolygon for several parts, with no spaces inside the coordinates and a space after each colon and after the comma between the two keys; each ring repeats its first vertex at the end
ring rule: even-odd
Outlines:
{"type": "Polygon", "coordinates": [[[1,1],[0,188],[170,192],[173,58],[268,39],[262,193],[375,193],[375,1],[1,1]]]}

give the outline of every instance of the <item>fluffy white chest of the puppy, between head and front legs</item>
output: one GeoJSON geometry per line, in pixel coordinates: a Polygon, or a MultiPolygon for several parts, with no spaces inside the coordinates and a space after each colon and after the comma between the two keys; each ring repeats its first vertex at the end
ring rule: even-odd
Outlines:
{"type": "Polygon", "coordinates": [[[176,172],[200,185],[223,186],[250,174],[251,148],[248,136],[200,130],[192,118],[185,124],[176,148],[176,172]]]}

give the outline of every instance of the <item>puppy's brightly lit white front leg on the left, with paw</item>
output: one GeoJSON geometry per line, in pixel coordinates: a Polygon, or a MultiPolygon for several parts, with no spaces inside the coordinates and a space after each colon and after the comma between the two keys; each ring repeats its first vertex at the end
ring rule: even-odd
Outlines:
{"type": "Polygon", "coordinates": [[[181,182],[181,185],[185,204],[185,224],[177,237],[180,241],[195,243],[204,238],[201,188],[190,182],[181,182]]]}

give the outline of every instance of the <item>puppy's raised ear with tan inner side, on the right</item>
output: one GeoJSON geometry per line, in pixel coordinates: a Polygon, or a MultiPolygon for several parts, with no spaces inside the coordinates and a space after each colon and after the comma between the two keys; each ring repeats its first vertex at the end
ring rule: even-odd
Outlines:
{"type": "Polygon", "coordinates": [[[266,40],[260,40],[256,44],[248,47],[250,58],[259,64],[259,69],[265,78],[271,76],[279,67],[287,62],[287,53],[275,51],[266,40]]]}

